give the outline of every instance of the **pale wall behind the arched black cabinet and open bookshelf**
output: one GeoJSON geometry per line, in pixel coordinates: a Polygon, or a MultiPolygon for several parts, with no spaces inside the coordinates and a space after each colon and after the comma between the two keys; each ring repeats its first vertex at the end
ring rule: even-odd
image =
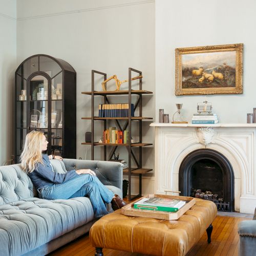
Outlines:
{"type": "MultiPolygon", "coordinates": [[[[81,117],[91,116],[91,96],[81,92],[91,91],[91,70],[124,80],[132,67],[142,71],[143,89],[155,91],[155,1],[17,1],[17,62],[33,54],[61,58],[76,70],[77,158],[90,159],[90,146],[81,142],[91,124],[81,117]]],[[[113,83],[107,86],[115,90],[113,83]]],[[[122,89],[127,86],[123,84],[122,89]]],[[[102,90],[100,83],[96,90],[102,90]]],[[[155,96],[143,99],[143,116],[154,118],[155,96]]],[[[143,124],[143,142],[154,142],[154,129],[149,124],[143,124]]],[[[102,130],[100,126],[99,136],[102,130]]],[[[126,150],[117,152],[127,158],[126,150]]],[[[153,147],[144,152],[143,166],[152,168],[153,147]]]]}

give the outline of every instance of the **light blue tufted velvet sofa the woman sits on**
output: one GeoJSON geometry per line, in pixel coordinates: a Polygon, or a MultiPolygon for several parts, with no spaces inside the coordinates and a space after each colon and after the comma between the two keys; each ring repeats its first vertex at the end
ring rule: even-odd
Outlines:
{"type": "MultiPolygon", "coordinates": [[[[51,160],[54,171],[90,168],[100,181],[122,196],[122,164],[51,160]]],[[[108,205],[110,207],[110,205],[108,205]]],[[[0,166],[0,255],[45,255],[87,233],[95,222],[89,198],[44,200],[20,164],[0,166]]]]}

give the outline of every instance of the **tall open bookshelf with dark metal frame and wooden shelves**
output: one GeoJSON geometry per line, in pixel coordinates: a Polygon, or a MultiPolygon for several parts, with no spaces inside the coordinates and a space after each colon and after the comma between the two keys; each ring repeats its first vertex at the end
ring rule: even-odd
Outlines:
{"type": "MultiPolygon", "coordinates": [[[[115,121],[116,126],[118,127],[118,131],[123,132],[124,134],[127,134],[128,136],[126,137],[125,135],[125,140],[128,143],[99,143],[99,142],[82,142],[82,145],[90,145],[91,146],[91,158],[94,160],[94,147],[95,146],[102,146],[104,148],[104,160],[112,159],[114,156],[117,147],[118,146],[123,146],[127,148],[128,151],[128,167],[123,169],[123,174],[128,175],[129,179],[129,186],[128,186],[128,200],[131,201],[134,198],[140,197],[142,194],[142,175],[146,174],[148,172],[151,172],[153,169],[151,168],[142,168],[142,148],[145,146],[151,146],[153,145],[152,143],[142,143],[142,121],[143,120],[152,120],[152,117],[143,117],[142,116],[142,95],[152,95],[153,92],[150,91],[145,91],[142,90],[142,72],[135,70],[133,68],[129,68],[129,90],[125,91],[95,91],[94,90],[94,83],[95,83],[95,74],[97,75],[102,75],[103,81],[106,80],[107,75],[105,73],[92,70],[92,91],[91,92],[82,92],[82,94],[89,95],[92,97],[92,111],[91,111],[91,117],[81,117],[82,120],[91,120],[91,132],[92,132],[92,137],[91,140],[94,141],[94,122],[97,120],[103,121],[104,124],[104,130],[107,130],[107,123],[109,124],[111,121],[115,121]],[[139,74],[141,76],[137,81],[139,81],[139,90],[132,90],[132,72],[139,74]],[[125,105],[125,108],[120,107],[119,103],[112,103],[113,97],[108,97],[109,95],[126,95],[126,103],[121,103],[125,105]],[[125,110],[125,112],[104,112],[104,115],[102,116],[112,116],[112,117],[97,117],[95,116],[95,97],[96,96],[102,96],[103,97],[103,104],[99,104],[99,116],[102,114],[103,108],[102,106],[108,107],[108,104],[112,104],[110,108],[104,108],[104,111],[112,111],[112,110],[125,110]],[[135,98],[137,101],[136,103],[132,103],[132,96],[133,99],[135,98]],[[119,104],[119,106],[118,106],[119,104]],[[134,117],[134,112],[137,110],[136,113],[137,116],[134,117]],[[119,116],[119,117],[113,117],[113,116],[119,116]],[[125,116],[125,117],[120,117],[120,116],[125,116]],[[122,121],[123,120],[123,121],[122,121]],[[138,139],[136,139],[138,142],[136,143],[131,143],[132,141],[132,136],[131,136],[131,131],[132,131],[132,123],[133,121],[137,121],[139,123],[139,129],[136,129],[136,135],[139,135],[138,139]],[[122,124],[122,125],[121,125],[122,124]],[[127,131],[127,133],[124,133],[124,131],[127,131]],[[112,148],[111,148],[112,147],[112,148]],[[106,157],[106,152],[110,152],[110,156],[107,158],[106,157]],[[111,149],[110,149],[111,148],[111,149]],[[138,149],[137,149],[138,148],[138,149]],[[136,154],[135,154],[136,153],[136,154]],[[138,159],[137,159],[138,158],[138,159]],[[136,168],[132,168],[132,160],[134,160],[133,165],[137,166],[136,168]],[[132,186],[132,175],[137,175],[139,176],[139,194],[136,196],[131,195],[131,186],[132,186]]],[[[97,76],[98,77],[98,76],[97,76]]],[[[113,130],[112,130],[113,131],[113,130]]],[[[110,131],[111,132],[111,131],[110,131]]],[[[105,132],[103,133],[104,136],[105,132]]],[[[119,133],[118,133],[119,134],[119,133]]],[[[113,135],[112,135],[113,136],[113,135]]],[[[104,137],[105,138],[105,137],[104,137]]],[[[110,141],[111,138],[110,138],[110,141]]],[[[125,141],[125,142],[126,142],[125,141]]],[[[106,142],[106,140],[104,140],[106,142]]],[[[117,142],[117,141],[116,141],[117,142]]]]}

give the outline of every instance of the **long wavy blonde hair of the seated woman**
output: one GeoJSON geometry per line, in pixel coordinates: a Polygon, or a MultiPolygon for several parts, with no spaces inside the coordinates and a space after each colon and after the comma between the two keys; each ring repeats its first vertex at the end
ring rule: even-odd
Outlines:
{"type": "Polygon", "coordinates": [[[22,168],[26,173],[32,173],[37,163],[42,163],[42,139],[44,133],[32,131],[27,134],[24,150],[20,155],[22,168]]]}

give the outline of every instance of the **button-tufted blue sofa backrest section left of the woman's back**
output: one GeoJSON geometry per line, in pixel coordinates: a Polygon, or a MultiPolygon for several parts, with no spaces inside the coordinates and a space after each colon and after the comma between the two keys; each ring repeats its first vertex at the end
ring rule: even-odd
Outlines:
{"type": "Polygon", "coordinates": [[[21,165],[0,166],[0,205],[30,197],[33,184],[21,165]]]}

